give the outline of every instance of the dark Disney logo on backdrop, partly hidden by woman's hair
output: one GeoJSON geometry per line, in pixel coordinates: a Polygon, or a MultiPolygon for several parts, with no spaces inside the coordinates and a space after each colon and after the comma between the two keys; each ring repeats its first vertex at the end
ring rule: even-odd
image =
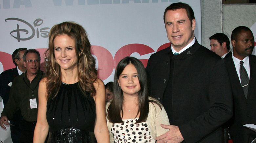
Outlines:
{"type": "Polygon", "coordinates": [[[36,28],[36,29],[34,28],[34,27],[38,27],[38,26],[40,26],[40,25],[43,24],[44,21],[43,21],[42,19],[40,19],[40,18],[38,18],[38,19],[36,19],[36,20],[34,21],[34,23],[33,23],[34,27],[33,27],[31,24],[29,24],[28,22],[26,22],[26,21],[24,21],[24,20],[22,20],[22,19],[19,19],[19,18],[7,18],[7,19],[5,19],[6,22],[7,22],[8,20],[20,21],[20,22],[22,22],[22,23],[24,23],[24,24],[27,24],[27,25],[31,28],[31,30],[32,30],[31,36],[26,37],[26,38],[21,38],[21,37],[20,37],[20,36],[21,36],[21,32],[25,32],[25,34],[27,35],[27,34],[29,34],[29,31],[28,31],[27,29],[21,29],[20,26],[19,26],[19,24],[17,24],[17,28],[16,28],[15,30],[12,30],[10,34],[11,34],[11,36],[12,36],[13,38],[17,39],[18,42],[30,40],[30,39],[32,39],[32,38],[35,36],[35,34],[36,34],[36,37],[37,37],[37,38],[39,38],[39,34],[40,34],[40,36],[43,37],[43,38],[49,37],[49,31],[46,31],[46,30],[50,29],[49,27],[43,27],[43,28],[41,28],[40,30],[39,30],[38,28],[36,28]],[[39,31],[40,31],[40,33],[39,33],[39,31]],[[15,37],[15,35],[13,35],[14,33],[17,34],[16,37],[15,37]]]}

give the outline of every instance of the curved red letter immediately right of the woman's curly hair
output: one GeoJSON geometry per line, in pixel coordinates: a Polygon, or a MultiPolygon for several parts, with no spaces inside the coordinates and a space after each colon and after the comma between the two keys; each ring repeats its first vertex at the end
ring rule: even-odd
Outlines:
{"type": "Polygon", "coordinates": [[[92,46],[92,54],[98,60],[98,78],[101,80],[107,79],[114,69],[113,56],[107,49],[95,45],[92,46]]]}

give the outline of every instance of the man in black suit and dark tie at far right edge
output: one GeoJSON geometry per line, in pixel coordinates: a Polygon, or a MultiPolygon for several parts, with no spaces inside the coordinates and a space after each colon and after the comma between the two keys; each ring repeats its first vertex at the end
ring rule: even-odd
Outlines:
{"type": "Polygon", "coordinates": [[[245,124],[256,124],[256,56],[254,36],[245,26],[231,34],[233,53],[225,59],[233,91],[233,118],[228,122],[234,143],[251,143],[256,133],[245,124]],[[244,71],[244,72],[243,72],[244,71]]]}

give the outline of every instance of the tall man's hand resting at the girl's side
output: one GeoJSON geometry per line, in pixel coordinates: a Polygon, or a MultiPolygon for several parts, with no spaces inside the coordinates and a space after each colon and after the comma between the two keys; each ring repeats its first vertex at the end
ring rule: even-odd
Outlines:
{"type": "Polygon", "coordinates": [[[158,136],[156,138],[157,143],[180,143],[184,140],[178,126],[161,124],[161,127],[169,129],[169,131],[158,136]]]}

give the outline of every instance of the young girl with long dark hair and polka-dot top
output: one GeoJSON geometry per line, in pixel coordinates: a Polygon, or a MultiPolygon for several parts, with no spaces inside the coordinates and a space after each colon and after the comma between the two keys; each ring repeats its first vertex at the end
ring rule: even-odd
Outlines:
{"type": "Polygon", "coordinates": [[[148,97],[147,76],[143,64],[135,57],[125,57],[117,65],[114,97],[106,105],[111,143],[155,143],[168,131],[163,106],[148,97]]]}

